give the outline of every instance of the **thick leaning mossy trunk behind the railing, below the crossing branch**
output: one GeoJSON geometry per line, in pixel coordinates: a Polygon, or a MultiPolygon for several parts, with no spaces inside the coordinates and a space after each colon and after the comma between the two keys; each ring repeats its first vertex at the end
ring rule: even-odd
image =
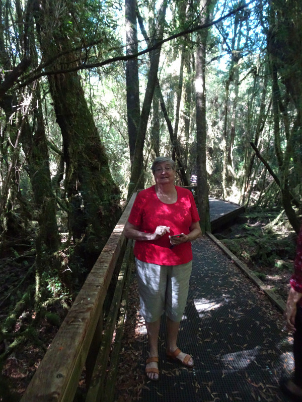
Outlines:
{"type": "Polygon", "coordinates": [[[80,77],[77,73],[57,74],[50,76],[49,82],[63,137],[69,229],[73,239],[86,234],[90,251],[95,251],[95,247],[99,249],[104,244],[116,223],[119,190],[112,179],[80,77]]]}

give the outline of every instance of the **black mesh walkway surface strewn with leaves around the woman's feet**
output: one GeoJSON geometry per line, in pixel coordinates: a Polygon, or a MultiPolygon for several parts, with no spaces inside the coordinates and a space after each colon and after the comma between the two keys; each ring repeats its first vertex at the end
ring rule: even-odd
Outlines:
{"type": "MultiPolygon", "coordinates": [[[[142,402],[287,401],[278,380],[293,360],[282,314],[209,238],[193,243],[193,255],[178,344],[195,367],[167,361],[163,319],[160,380],[145,378],[142,402]]],[[[139,347],[145,359],[146,337],[139,347]]]]}

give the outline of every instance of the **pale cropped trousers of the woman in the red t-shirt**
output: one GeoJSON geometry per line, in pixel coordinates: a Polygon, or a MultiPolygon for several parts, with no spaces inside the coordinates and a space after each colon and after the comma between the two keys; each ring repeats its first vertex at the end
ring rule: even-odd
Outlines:
{"type": "Polygon", "coordinates": [[[148,323],[165,312],[180,322],[185,311],[192,261],[182,265],[157,265],[135,259],[140,314],[148,323]]]}

